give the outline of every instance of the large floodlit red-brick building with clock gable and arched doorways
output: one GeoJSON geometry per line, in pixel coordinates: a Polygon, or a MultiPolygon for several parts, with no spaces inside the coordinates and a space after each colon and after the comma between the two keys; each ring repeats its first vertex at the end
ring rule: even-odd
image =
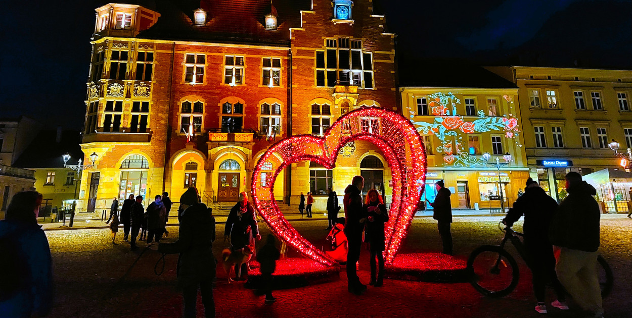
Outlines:
{"type": "MultiPolygon", "coordinates": [[[[132,193],[177,199],[188,186],[205,202],[235,201],[272,143],[322,134],[362,105],[396,109],[394,35],[370,0],[127,1],[96,12],[82,150],[99,158],[80,211],[132,193]]],[[[361,173],[389,196],[370,144],[348,144],[332,171],[313,166],[286,169],[276,198],[341,193],[361,173]]]]}

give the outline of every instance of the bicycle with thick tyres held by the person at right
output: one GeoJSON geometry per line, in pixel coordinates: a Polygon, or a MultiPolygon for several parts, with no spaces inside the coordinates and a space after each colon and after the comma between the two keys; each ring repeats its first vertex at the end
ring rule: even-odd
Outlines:
{"type": "MultiPolygon", "coordinates": [[[[527,264],[528,257],[520,240],[520,237],[525,235],[515,232],[511,227],[501,227],[502,221],[498,224],[498,228],[505,233],[501,244],[482,245],[475,249],[468,258],[467,269],[471,275],[470,283],[478,292],[485,296],[500,298],[513,292],[520,278],[518,262],[504,249],[507,240],[516,247],[518,254],[527,264]]],[[[612,269],[601,255],[597,256],[597,273],[602,297],[606,297],[612,291],[612,269]]]]}

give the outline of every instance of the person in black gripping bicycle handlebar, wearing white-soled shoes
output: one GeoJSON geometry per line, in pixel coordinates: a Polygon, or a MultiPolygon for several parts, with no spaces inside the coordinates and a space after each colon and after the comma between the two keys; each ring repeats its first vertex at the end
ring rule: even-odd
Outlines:
{"type": "Polygon", "coordinates": [[[533,293],[537,300],[535,310],[540,314],[547,313],[544,303],[547,283],[551,281],[556,290],[557,300],[553,307],[568,309],[564,288],[557,280],[555,273],[555,256],[553,245],[549,241],[549,225],[557,210],[557,202],[538,185],[533,179],[526,180],[525,192],[518,197],[502,220],[508,227],[525,216],[523,231],[525,232],[525,247],[527,263],[532,272],[533,293]]]}

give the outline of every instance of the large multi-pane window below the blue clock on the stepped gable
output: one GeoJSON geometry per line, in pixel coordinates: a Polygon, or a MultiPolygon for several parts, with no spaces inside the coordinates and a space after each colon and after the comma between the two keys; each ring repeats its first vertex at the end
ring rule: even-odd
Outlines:
{"type": "Polygon", "coordinates": [[[326,50],[316,51],[316,86],[374,88],[373,56],[362,50],[362,41],[326,39],[325,46],[326,50]]]}

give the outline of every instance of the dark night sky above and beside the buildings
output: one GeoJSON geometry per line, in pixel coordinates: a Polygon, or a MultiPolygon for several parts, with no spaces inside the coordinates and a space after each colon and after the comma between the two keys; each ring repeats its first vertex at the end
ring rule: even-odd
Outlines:
{"type": "MultiPolygon", "coordinates": [[[[0,117],[79,129],[94,9],[105,1],[6,1],[0,117]]],[[[630,0],[382,0],[398,59],[632,69],[630,0]]]]}

